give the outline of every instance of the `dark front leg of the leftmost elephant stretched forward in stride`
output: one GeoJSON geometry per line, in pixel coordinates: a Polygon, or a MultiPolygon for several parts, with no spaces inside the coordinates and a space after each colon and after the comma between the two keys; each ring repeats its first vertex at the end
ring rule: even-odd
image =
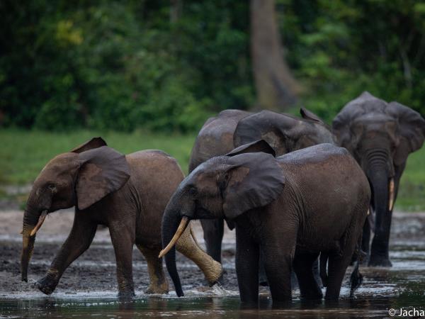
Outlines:
{"type": "Polygon", "coordinates": [[[71,233],[57,253],[47,274],[35,284],[40,291],[47,295],[55,291],[65,269],[89,248],[96,234],[96,228],[96,223],[92,223],[87,215],[81,212],[75,213],[71,233]]]}

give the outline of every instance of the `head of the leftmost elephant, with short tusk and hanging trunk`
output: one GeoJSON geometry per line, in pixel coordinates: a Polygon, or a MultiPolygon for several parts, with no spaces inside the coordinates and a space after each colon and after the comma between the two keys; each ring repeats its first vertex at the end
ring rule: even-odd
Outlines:
{"type": "Polygon", "coordinates": [[[89,208],[120,189],[129,177],[125,156],[106,146],[102,138],[50,160],[34,181],[23,215],[22,280],[27,281],[35,233],[48,213],[72,206],[89,208]]]}

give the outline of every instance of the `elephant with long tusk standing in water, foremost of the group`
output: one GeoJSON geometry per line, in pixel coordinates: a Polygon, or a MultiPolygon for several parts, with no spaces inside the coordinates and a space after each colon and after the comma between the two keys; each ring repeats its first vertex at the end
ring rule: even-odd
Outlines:
{"type": "MultiPolygon", "coordinates": [[[[325,298],[339,298],[346,268],[361,244],[370,187],[343,147],[314,145],[274,157],[260,140],[212,157],[188,175],[162,219],[162,250],[178,296],[183,296],[174,243],[193,219],[226,218],[236,228],[236,271],[243,303],[258,303],[259,252],[273,302],[291,299],[293,268],[303,299],[322,298],[312,265],[328,259],[325,298]],[[253,152],[254,150],[254,152],[253,152]],[[171,238],[171,234],[174,236],[171,238]]],[[[352,284],[358,284],[358,266],[352,284]]]]}

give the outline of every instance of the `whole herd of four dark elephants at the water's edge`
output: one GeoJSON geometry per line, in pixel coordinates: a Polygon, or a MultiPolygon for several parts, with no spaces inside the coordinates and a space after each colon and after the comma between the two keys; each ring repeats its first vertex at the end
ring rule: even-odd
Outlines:
{"type": "Polygon", "coordinates": [[[290,300],[291,272],[301,298],[322,298],[313,271],[318,259],[325,298],[339,298],[351,262],[353,293],[361,284],[361,262],[391,266],[392,208],[407,157],[424,142],[425,120],[368,92],[347,103],[332,128],[305,108],[301,116],[222,111],[200,130],[186,178],[162,151],[122,155],[101,138],[57,155],[28,197],[22,280],[47,214],[75,206],[69,237],[36,283],[43,293],[52,293],[69,264],[89,248],[97,225],[111,234],[120,296],[134,296],[133,245],[147,261],[147,293],[169,291],[165,257],[176,294],[183,296],[176,250],[214,284],[222,276],[224,221],[236,230],[243,302],[258,302],[260,269],[273,302],[290,300]],[[207,252],[193,236],[195,219],[201,220],[207,252]]]}

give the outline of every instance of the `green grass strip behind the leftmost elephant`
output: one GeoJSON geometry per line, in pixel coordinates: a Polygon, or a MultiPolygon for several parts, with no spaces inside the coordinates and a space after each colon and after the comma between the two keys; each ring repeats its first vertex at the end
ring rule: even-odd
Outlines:
{"type": "Polygon", "coordinates": [[[101,133],[79,130],[50,133],[26,130],[0,130],[0,184],[28,184],[34,181],[45,164],[56,155],[69,152],[90,138],[101,136],[109,146],[123,154],[138,150],[163,150],[175,157],[183,172],[196,135],[161,135],[156,133],[101,133]]]}

